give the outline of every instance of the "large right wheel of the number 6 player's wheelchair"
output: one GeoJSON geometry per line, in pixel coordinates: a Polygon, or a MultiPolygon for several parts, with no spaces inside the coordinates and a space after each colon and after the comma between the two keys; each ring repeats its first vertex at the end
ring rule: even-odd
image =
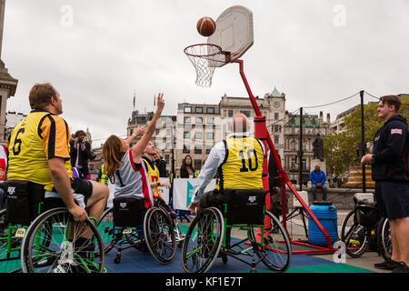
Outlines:
{"type": "Polygon", "coordinates": [[[38,216],[23,240],[21,264],[24,273],[103,273],[104,245],[94,223],[75,223],[66,208],[38,216]],[[90,238],[80,242],[84,233],[90,238]]]}

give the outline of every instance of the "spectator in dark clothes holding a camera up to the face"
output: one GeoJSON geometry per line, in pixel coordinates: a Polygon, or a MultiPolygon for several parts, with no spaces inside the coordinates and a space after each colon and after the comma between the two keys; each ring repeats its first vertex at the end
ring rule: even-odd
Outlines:
{"type": "Polygon", "coordinates": [[[71,166],[75,166],[86,179],[91,176],[88,169],[88,160],[91,158],[91,145],[85,141],[85,131],[75,132],[74,139],[70,140],[71,166]]]}

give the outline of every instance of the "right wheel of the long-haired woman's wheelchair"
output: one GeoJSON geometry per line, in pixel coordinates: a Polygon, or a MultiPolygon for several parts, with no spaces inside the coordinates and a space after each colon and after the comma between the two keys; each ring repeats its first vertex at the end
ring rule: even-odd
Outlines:
{"type": "Polygon", "coordinates": [[[162,208],[150,208],[144,217],[146,246],[152,256],[161,263],[172,261],[176,253],[174,224],[162,208]]]}

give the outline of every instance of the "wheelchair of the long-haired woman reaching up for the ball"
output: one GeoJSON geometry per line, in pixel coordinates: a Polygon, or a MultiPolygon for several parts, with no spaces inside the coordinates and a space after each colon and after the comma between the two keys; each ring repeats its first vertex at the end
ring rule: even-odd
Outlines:
{"type": "Polygon", "coordinates": [[[134,247],[148,250],[161,264],[170,263],[176,252],[175,225],[164,208],[145,208],[141,197],[115,197],[114,206],[105,210],[98,223],[104,252],[116,249],[114,263],[121,262],[122,252],[134,247]]]}

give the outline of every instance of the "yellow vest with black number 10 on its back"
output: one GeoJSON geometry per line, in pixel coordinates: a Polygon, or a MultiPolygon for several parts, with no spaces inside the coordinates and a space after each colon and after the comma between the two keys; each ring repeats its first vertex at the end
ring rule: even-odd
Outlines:
{"type": "Polygon", "coordinates": [[[231,137],[224,141],[224,163],[219,166],[216,189],[263,189],[264,153],[254,137],[231,137]]]}

